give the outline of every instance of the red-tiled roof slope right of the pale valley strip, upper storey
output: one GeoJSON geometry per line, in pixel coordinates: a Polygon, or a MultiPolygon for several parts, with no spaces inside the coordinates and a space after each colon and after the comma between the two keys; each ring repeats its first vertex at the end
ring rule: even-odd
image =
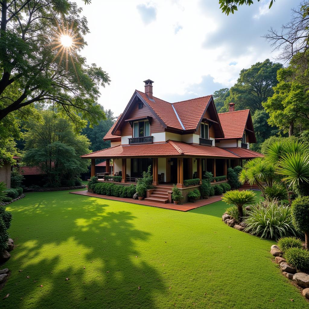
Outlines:
{"type": "Polygon", "coordinates": [[[195,130],[197,128],[210,98],[211,95],[206,95],[200,98],[173,103],[185,130],[195,130]]]}

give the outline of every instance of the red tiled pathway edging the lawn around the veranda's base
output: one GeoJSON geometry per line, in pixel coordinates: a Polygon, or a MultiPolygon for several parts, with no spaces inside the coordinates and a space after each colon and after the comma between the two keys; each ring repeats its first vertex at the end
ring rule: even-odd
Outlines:
{"type": "Polygon", "coordinates": [[[213,197],[210,197],[204,200],[197,200],[195,203],[184,203],[182,205],[175,205],[171,203],[161,204],[161,203],[155,203],[155,202],[133,200],[132,198],[107,196],[107,195],[101,195],[101,194],[96,194],[96,193],[90,193],[87,191],[74,191],[70,193],[85,195],[85,196],[90,196],[90,197],[98,197],[98,198],[103,198],[105,200],[120,201],[120,202],[125,202],[125,203],[140,204],[140,205],[165,208],[165,209],[171,209],[171,210],[179,210],[179,211],[192,210],[192,209],[195,209],[201,206],[205,206],[205,205],[208,205],[214,202],[221,201],[221,198],[222,198],[221,195],[215,195],[213,197]]]}

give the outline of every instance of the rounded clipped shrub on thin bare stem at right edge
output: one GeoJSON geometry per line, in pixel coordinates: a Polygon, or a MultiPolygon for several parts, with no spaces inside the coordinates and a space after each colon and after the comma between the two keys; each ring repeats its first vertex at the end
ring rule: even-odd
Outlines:
{"type": "Polygon", "coordinates": [[[291,206],[293,224],[305,233],[306,249],[309,250],[309,197],[297,197],[291,206]]]}

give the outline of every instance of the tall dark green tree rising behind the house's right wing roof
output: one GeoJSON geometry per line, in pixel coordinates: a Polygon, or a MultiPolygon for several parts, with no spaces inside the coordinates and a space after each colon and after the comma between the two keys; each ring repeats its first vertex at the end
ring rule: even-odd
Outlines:
{"type": "Polygon", "coordinates": [[[266,59],[249,69],[242,69],[237,83],[231,87],[230,95],[225,100],[226,111],[230,102],[235,102],[235,108],[238,110],[249,108],[252,113],[262,110],[262,103],[273,95],[273,87],[278,83],[277,71],[281,67],[280,63],[266,59]]]}

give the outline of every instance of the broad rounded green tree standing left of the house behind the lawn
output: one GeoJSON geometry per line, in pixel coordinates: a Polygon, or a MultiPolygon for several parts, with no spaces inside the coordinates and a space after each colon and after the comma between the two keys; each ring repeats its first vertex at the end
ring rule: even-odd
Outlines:
{"type": "Polygon", "coordinates": [[[89,160],[80,156],[90,152],[90,143],[61,115],[51,111],[41,114],[42,122],[29,123],[22,161],[27,166],[41,168],[46,174],[46,187],[59,187],[64,181],[75,180],[88,171],[89,160]]]}

